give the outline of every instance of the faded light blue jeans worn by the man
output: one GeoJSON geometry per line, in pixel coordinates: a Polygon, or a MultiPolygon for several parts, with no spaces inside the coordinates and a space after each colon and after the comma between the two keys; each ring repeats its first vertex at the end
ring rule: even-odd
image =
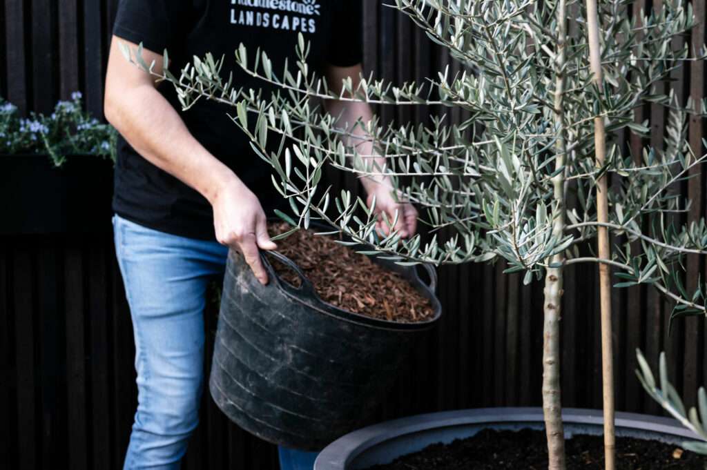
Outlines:
{"type": "MultiPolygon", "coordinates": [[[[138,407],[124,470],[177,470],[199,422],[206,288],[228,249],[115,216],[115,251],[135,335],[138,407]]],[[[316,454],[280,449],[282,470],[312,470],[316,454]]]]}

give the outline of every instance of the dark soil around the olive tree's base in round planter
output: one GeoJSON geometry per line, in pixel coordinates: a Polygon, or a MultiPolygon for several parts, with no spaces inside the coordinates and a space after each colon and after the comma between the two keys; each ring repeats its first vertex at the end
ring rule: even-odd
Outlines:
{"type": "MultiPolygon", "coordinates": [[[[604,438],[577,435],[567,441],[568,470],[604,469],[604,438]]],[[[617,437],[617,470],[704,470],[707,458],[662,442],[617,437]]],[[[483,430],[449,445],[435,444],[368,470],[544,470],[544,431],[483,430]]]]}

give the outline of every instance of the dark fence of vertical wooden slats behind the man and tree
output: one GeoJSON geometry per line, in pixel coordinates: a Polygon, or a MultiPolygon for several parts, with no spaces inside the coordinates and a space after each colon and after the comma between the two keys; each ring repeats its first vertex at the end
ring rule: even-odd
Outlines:
{"type": "MultiPolygon", "coordinates": [[[[448,63],[391,8],[374,0],[364,3],[367,69],[402,82],[431,76],[448,63]]],[[[636,3],[660,8],[661,1],[636,3]]],[[[694,1],[701,22],[704,4],[694,1]]],[[[88,108],[100,115],[116,6],[117,0],[0,0],[0,95],[23,111],[46,112],[57,99],[81,90],[88,108]]],[[[703,44],[704,26],[685,40],[703,44]]],[[[671,86],[679,98],[699,102],[704,65],[686,66],[671,86]]],[[[385,119],[426,119],[426,110],[382,114],[385,119]]],[[[663,111],[647,108],[639,114],[653,118],[653,143],[660,146],[663,111]]],[[[690,141],[699,148],[703,122],[691,119],[689,125],[690,141]]],[[[626,141],[640,144],[633,136],[626,141]]],[[[691,210],[701,214],[705,178],[694,176],[683,190],[694,200],[691,210]]],[[[106,226],[103,234],[0,237],[2,468],[121,468],[136,403],[134,346],[110,225],[103,218],[96,223],[106,226]]],[[[540,404],[542,290],[522,286],[517,275],[503,276],[502,269],[472,265],[441,270],[443,322],[402,370],[379,418],[540,404]]],[[[705,274],[697,259],[689,260],[688,269],[688,283],[705,274]]],[[[568,271],[562,356],[566,406],[601,406],[596,277],[590,267],[568,271]]],[[[615,291],[619,409],[658,412],[633,374],[638,347],[654,365],[658,353],[667,351],[677,386],[694,403],[707,375],[705,324],[696,318],[679,321],[670,335],[669,316],[670,305],[651,290],[615,291]]],[[[208,331],[214,327],[211,309],[208,331]]],[[[274,448],[227,423],[206,395],[187,468],[275,469],[274,448]]]]}

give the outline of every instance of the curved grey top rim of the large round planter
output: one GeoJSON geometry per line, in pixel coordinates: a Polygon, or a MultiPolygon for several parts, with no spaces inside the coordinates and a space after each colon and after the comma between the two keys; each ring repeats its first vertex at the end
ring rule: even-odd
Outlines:
{"type": "MultiPolygon", "coordinates": [[[[317,464],[327,462],[327,468],[345,469],[351,459],[370,447],[396,437],[432,428],[482,423],[542,423],[543,421],[542,408],[481,408],[409,416],[371,425],[339,438],[321,452],[317,457],[317,464]]],[[[568,408],[562,411],[562,421],[565,424],[602,425],[604,418],[601,410],[568,408]]],[[[617,413],[616,426],[684,437],[686,440],[699,440],[699,436],[684,428],[679,421],[663,416],[617,413]]],[[[315,468],[319,467],[315,466],[315,468]]]]}

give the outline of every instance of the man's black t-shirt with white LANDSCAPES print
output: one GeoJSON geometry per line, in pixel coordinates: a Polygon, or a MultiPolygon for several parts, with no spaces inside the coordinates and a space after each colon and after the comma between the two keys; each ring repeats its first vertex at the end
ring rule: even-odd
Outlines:
{"type": "MultiPolygon", "coordinates": [[[[170,55],[170,70],[178,71],[194,55],[206,52],[226,57],[222,74],[233,71],[236,88],[262,89],[264,82],[235,64],[241,42],[253,57],[257,47],[267,52],[275,70],[285,59],[295,63],[298,33],[311,44],[308,62],[353,66],[361,62],[361,0],[120,0],[114,34],[146,49],[170,55]]],[[[192,135],[226,163],[259,197],[266,211],[281,206],[271,182],[271,168],[250,148],[249,139],[230,120],[235,110],[207,100],[182,112],[174,87],[158,90],[180,112],[192,135]]],[[[148,228],[185,237],[213,239],[211,206],[194,189],[152,165],[124,139],[119,139],[113,209],[119,216],[148,228]]]]}

